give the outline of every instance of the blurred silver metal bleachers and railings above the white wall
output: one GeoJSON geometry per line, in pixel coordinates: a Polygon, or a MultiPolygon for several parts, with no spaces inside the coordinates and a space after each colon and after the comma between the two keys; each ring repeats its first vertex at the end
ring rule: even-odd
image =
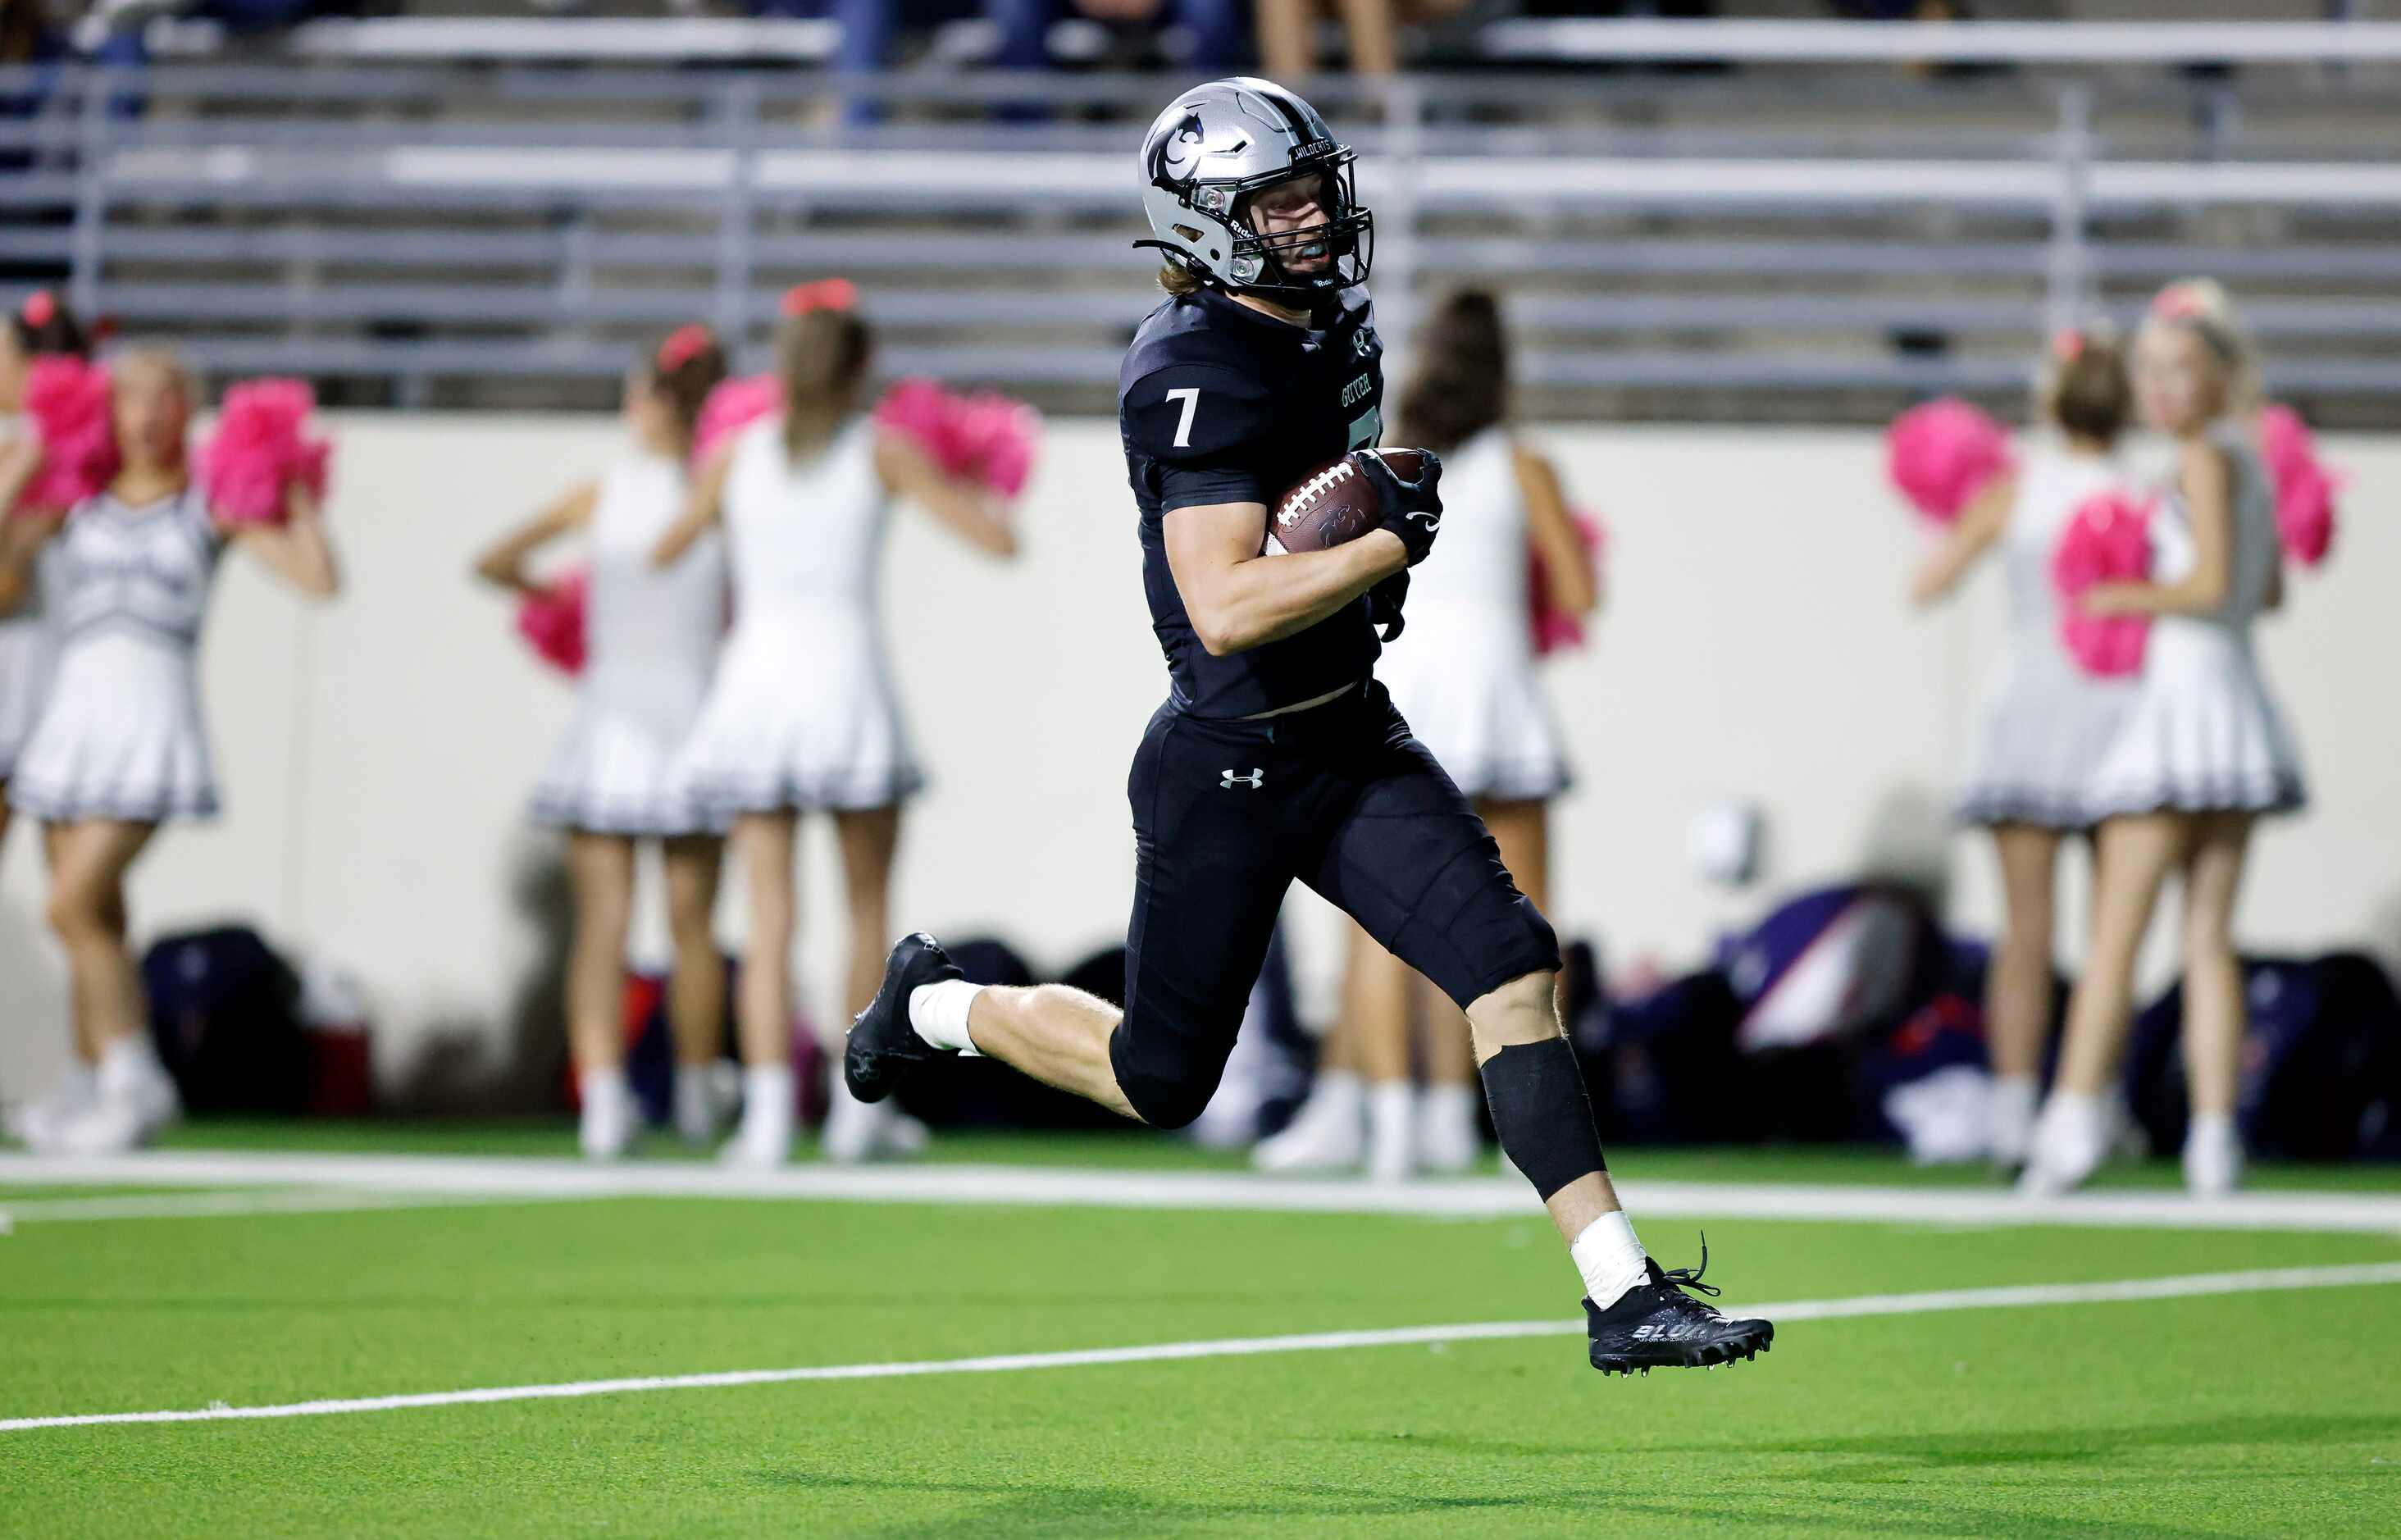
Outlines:
{"type": "MultiPolygon", "coordinates": [[[[1503,288],[1537,411],[1856,418],[2017,392],[2050,327],[2214,271],[2276,389],[2401,420],[2401,74],[2355,62],[2401,58],[2401,29],[2298,31],[2343,34],[2353,62],[1409,77],[1325,103],[1361,147],[1383,332],[1405,341],[1445,286],[1503,288]]],[[[1133,142],[1172,89],[0,74],[38,101],[0,118],[0,298],[62,276],[214,375],[307,372],[358,404],[598,401],[663,327],[703,317],[759,358],[785,283],[850,271],[891,368],[1100,406],[1157,298],[1128,250],[1133,142]]]]}

